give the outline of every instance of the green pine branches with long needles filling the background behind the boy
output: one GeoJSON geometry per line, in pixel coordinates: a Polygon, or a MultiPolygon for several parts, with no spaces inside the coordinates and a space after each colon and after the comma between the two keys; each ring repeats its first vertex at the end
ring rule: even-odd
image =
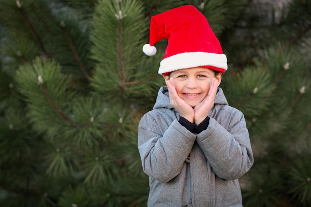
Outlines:
{"type": "Polygon", "coordinates": [[[144,207],[137,126],[164,85],[152,15],[193,4],[255,163],[245,207],[311,205],[311,1],[0,0],[0,206],[144,207]]]}

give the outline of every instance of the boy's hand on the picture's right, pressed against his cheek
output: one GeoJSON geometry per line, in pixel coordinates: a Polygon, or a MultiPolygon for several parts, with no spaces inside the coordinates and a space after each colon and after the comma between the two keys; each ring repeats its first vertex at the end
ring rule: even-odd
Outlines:
{"type": "Polygon", "coordinates": [[[194,107],[194,123],[199,125],[209,114],[210,110],[214,106],[214,99],[217,93],[218,82],[214,77],[208,95],[203,99],[201,103],[198,103],[194,107]]]}

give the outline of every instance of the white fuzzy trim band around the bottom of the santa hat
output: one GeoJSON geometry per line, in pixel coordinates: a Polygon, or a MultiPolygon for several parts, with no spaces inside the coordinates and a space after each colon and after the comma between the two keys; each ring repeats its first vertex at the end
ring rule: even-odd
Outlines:
{"type": "Polygon", "coordinates": [[[160,62],[158,73],[163,74],[177,69],[188,69],[200,66],[213,66],[227,70],[227,56],[225,54],[205,52],[179,53],[163,59],[160,62]]]}

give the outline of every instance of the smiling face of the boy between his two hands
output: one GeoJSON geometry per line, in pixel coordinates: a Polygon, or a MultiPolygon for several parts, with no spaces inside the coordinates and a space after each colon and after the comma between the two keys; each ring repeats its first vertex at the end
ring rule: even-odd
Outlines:
{"type": "Polygon", "coordinates": [[[215,71],[206,68],[179,69],[164,76],[165,80],[174,79],[178,96],[187,104],[195,107],[208,95],[212,79],[215,77],[218,86],[222,80],[222,73],[215,76],[215,71]]]}

